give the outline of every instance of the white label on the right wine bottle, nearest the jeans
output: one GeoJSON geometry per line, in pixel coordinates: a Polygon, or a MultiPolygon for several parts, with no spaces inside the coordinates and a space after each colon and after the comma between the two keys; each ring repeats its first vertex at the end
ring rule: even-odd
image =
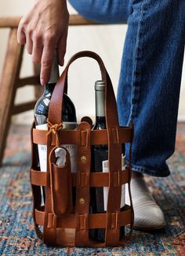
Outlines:
{"type": "MultiPolygon", "coordinates": [[[[103,173],[108,173],[108,160],[102,161],[102,170],[103,173]]],[[[122,171],[125,170],[125,155],[122,154],[122,171]]],[[[108,187],[103,187],[103,202],[104,202],[104,210],[107,210],[107,202],[108,202],[108,187]]],[[[122,196],[121,196],[121,204],[120,208],[125,206],[125,184],[122,185],[122,196]]]]}

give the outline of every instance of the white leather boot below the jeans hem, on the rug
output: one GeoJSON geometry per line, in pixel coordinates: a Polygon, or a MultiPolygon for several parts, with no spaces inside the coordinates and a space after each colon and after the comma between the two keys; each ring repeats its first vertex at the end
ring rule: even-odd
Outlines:
{"type": "MultiPolygon", "coordinates": [[[[134,229],[155,230],[165,228],[164,214],[154,201],[142,177],[132,178],[131,193],[134,210],[134,229]]],[[[130,204],[128,193],[126,193],[125,202],[130,204]]]]}

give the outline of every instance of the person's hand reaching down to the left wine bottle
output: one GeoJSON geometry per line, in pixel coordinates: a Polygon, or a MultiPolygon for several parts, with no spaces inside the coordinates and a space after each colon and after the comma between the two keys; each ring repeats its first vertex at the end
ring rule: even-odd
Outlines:
{"type": "Polygon", "coordinates": [[[27,52],[34,63],[41,63],[42,85],[49,80],[55,48],[59,64],[63,65],[68,20],[66,0],[36,0],[31,11],[20,20],[17,41],[27,44],[27,52]]]}

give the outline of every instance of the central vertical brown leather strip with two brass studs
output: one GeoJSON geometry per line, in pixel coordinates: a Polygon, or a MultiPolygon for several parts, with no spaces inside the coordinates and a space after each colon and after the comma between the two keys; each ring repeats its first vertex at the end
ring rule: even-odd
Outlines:
{"type": "Polygon", "coordinates": [[[76,229],[74,245],[89,245],[89,173],[91,163],[90,132],[88,123],[78,125],[77,187],[76,187],[76,229]],[[85,182],[84,182],[85,181],[85,182]]]}

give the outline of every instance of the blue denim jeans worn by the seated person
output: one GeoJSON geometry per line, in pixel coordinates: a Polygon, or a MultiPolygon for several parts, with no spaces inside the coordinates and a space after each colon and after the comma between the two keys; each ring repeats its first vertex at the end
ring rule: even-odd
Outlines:
{"type": "Polygon", "coordinates": [[[78,13],[90,20],[113,24],[127,21],[118,114],[121,125],[128,125],[131,118],[134,123],[132,170],[151,176],[169,176],[166,160],[175,149],[185,43],[185,1],[70,2],[78,13]]]}

